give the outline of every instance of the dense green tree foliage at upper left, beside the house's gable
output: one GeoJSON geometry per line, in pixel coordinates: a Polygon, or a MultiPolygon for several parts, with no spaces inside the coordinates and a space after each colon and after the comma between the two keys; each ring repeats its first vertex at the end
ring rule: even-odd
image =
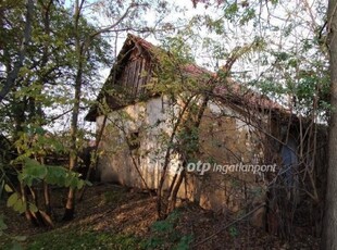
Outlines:
{"type": "MultiPolygon", "coordinates": [[[[25,25],[25,1],[5,1],[7,10],[1,12],[0,83],[4,83],[21,49],[25,25]],[[3,42],[2,39],[4,39],[3,42]]],[[[7,97],[5,107],[0,105],[0,127],[16,139],[25,127],[53,126],[54,115],[59,115],[73,103],[72,83],[75,82],[77,51],[74,47],[73,10],[63,1],[37,1],[32,21],[32,42],[27,45],[27,59],[20,72],[20,80],[7,97]],[[49,109],[49,110],[47,110],[49,109]],[[53,112],[50,112],[52,110],[53,112]],[[13,126],[8,126],[13,124],[13,126]]],[[[85,15],[78,22],[80,39],[96,33],[96,27],[85,15]]],[[[96,83],[97,73],[111,65],[111,46],[103,37],[91,40],[83,65],[83,82],[96,83]]],[[[87,95],[84,95],[84,97],[87,95]]],[[[83,98],[85,99],[85,98],[83,98]]],[[[61,115],[62,116],[62,115],[61,115]]]]}

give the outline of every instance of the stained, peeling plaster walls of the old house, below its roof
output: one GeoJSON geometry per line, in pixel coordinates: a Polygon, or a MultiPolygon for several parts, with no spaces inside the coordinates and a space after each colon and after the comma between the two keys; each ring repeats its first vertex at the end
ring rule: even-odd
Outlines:
{"type": "MultiPolygon", "coordinates": [[[[143,189],[143,178],[148,188],[157,189],[172,121],[179,109],[172,108],[167,98],[153,98],[112,112],[100,145],[102,153],[98,171],[101,180],[143,189]],[[130,149],[127,141],[132,135],[139,141],[137,148],[130,149]]],[[[102,121],[102,116],[97,118],[98,129],[102,121]]],[[[199,160],[212,163],[212,167],[214,164],[259,163],[263,158],[259,134],[244,121],[242,115],[230,108],[209,104],[200,124],[199,160]]],[[[179,155],[173,154],[170,178],[179,164],[179,155]]],[[[164,189],[168,187],[170,178],[164,189]]],[[[238,211],[249,202],[264,199],[264,183],[253,173],[210,171],[200,175],[189,172],[178,196],[205,209],[238,211]]]]}

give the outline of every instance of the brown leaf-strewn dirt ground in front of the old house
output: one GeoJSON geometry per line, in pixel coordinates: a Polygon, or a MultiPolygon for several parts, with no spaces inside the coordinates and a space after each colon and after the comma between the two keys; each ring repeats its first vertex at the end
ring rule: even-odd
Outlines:
{"type": "MultiPolygon", "coordinates": [[[[55,192],[59,193],[53,200],[57,228],[76,225],[82,229],[90,227],[97,232],[151,237],[150,226],[157,221],[157,213],[155,197],[149,193],[112,184],[93,185],[77,203],[75,220],[63,223],[61,216],[66,192],[61,189],[55,192]]],[[[5,215],[9,233],[29,237],[47,230],[29,226],[24,216],[7,208],[4,202],[0,209],[5,215]]],[[[249,218],[227,226],[236,220],[234,215],[216,214],[189,203],[179,208],[174,229],[182,236],[194,236],[190,249],[319,249],[319,239],[310,236],[305,228],[298,228],[294,239],[287,242],[252,227],[249,218]],[[222,229],[224,227],[226,229],[222,229]]]]}

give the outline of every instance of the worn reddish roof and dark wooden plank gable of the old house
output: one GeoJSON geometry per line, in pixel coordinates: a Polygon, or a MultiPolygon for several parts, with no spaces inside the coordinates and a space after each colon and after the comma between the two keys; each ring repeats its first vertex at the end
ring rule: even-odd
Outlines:
{"type": "MultiPolygon", "coordinates": [[[[111,68],[109,77],[97,97],[97,103],[90,108],[85,117],[86,121],[95,122],[96,117],[102,114],[99,103],[103,101],[109,104],[111,110],[118,110],[137,102],[138,99],[135,98],[135,95],[145,91],[143,86],[149,78],[151,78],[153,66],[160,63],[160,60],[155,58],[155,53],[159,50],[163,51],[160,47],[140,37],[128,34],[116,58],[116,62],[111,68]],[[134,63],[130,64],[130,61],[134,63]],[[148,70],[150,73],[143,75],[142,72],[145,70],[148,70]],[[133,98],[127,98],[127,95],[122,95],[125,89],[128,93],[132,93],[133,98]]],[[[203,83],[205,83],[205,77],[209,79],[217,78],[217,74],[190,63],[183,65],[182,72],[184,72],[185,76],[199,79],[199,82],[202,79],[203,83]]],[[[237,82],[234,82],[232,78],[226,78],[226,85],[221,84],[221,82],[216,84],[216,82],[217,80],[212,82],[213,84],[215,83],[214,88],[212,88],[215,98],[221,98],[235,104],[245,104],[258,109],[288,113],[288,111],[277,102],[272,101],[257,91],[248,89],[237,82]]],[[[155,96],[155,93],[152,93],[152,97],[153,96],[155,96]]]]}

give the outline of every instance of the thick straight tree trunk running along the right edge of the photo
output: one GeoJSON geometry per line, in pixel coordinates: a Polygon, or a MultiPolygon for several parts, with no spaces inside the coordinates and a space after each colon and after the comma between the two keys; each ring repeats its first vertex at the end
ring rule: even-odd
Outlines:
{"type": "Polygon", "coordinates": [[[337,0],[328,1],[327,29],[330,63],[330,121],[325,217],[322,249],[337,249],[337,0]]]}

